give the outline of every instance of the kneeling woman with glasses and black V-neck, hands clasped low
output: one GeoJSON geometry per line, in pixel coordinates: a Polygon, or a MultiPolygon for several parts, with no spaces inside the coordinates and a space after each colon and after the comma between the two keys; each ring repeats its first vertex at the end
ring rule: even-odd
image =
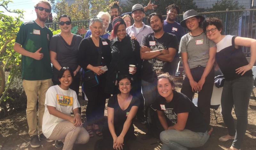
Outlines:
{"type": "Polygon", "coordinates": [[[95,144],[95,150],[128,149],[126,142],[135,139],[132,119],[137,113],[140,100],[130,94],[132,79],[120,75],[117,79],[119,94],[108,100],[108,123],[103,126],[103,139],[95,144]]]}

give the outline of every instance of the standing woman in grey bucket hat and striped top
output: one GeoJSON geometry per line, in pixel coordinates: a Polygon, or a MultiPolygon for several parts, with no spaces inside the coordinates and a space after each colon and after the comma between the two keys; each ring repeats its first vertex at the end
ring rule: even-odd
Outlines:
{"type": "Polygon", "coordinates": [[[190,31],[180,40],[179,53],[186,75],[181,92],[192,100],[195,92],[198,92],[197,106],[210,127],[210,105],[214,83],[213,63],[215,61],[216,44],[209,40],[202,28],[204,17],[198,15],[195,10],[189,10],[183,15],[184,20],[180,25],[190,31]]]}

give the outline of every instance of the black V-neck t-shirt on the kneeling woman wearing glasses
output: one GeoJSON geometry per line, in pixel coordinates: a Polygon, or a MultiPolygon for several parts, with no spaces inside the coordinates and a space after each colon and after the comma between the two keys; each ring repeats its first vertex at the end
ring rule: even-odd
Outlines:
{"type": "MultiPolygon", "coordinates": [[[[108,100],[108,107],[114,108],[114,126],[117,126],[117,125],[123,126],[132,106],[139,107],[139,105],[140,105],[140,100],[137,97],[133,96],[128,108],[125,110],[122,110],[118,104],[117,94],[111,96],[108,100]]],[[[131,127],[133,127],[133,125],[131,125],[130,128],[131,127]]]]}

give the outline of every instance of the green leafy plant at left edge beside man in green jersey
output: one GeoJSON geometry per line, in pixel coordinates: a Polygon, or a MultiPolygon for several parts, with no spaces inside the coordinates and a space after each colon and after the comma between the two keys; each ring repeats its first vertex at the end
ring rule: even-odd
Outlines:
{"type": "Polygon", "coordinates": [[[21,55],[13,50],[15,38],[19,32],[20,25],[22,24],[21,19],[23,18],[22,10],[10,10],[8,4],[12,3],[10,0],[0,0],[0,7],[4,8],[7,12],[16,13],[17,17],[12,17],[0,12],[0,104],[3,100],[8,99],[7,91],[11,87],[14,77],[20,76],[21,69],[21,55]],[[8,79],[5,79],[5,70],[10,70],[8,79]],[[5,83],[6,80],[6,83],[5,83]],[[4,83],[4,84],[3,84],[4,83]],[[7,86],[6,86],[7,85],[7,86]]]}

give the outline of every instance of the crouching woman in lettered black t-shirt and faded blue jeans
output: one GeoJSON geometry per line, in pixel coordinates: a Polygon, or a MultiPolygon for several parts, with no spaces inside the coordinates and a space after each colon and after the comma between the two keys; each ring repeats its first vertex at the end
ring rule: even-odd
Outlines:
{"type": "Polygon", "coordinates": [[[158,75],[159,97],[155,103],[164,131],[161,150],[188,150],[200,147],[208,140],[207,124],[202,114],[184,94],[174,90],[175,84],[168,73],[158,75]],[[165,119],[166,118],[166,119],[165,119]]]}

